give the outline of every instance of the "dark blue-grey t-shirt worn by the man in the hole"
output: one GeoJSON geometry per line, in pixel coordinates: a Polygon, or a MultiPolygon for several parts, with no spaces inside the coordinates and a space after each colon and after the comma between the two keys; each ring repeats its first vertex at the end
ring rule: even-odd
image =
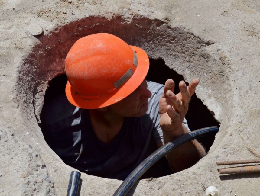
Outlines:
{"type": "MultiPolygon", "coordinates": [[[[121,130],[110,143],[96,137],[89,112],[69,103],[65,93],[44,102],[41,128],[44,138],[67,165],[89,175],[124,180],[137,165],[163,142],[158,103],[164,85],[148,82],[152,96],[147,113],[125,118],[121,130]]],[[[187,126],[186,120],[184,124],[187,126]]],[[[168,175],[171,169],[162,159],[144,177],[168,175]]]]}

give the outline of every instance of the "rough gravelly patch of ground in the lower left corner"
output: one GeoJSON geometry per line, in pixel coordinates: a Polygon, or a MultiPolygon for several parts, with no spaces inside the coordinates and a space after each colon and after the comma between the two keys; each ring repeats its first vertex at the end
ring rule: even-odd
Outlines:
{"type": "Polygon", "coordinates": [[[0,156],[0,195],[56,195],[41,156],[2,127],[0,156]]]}

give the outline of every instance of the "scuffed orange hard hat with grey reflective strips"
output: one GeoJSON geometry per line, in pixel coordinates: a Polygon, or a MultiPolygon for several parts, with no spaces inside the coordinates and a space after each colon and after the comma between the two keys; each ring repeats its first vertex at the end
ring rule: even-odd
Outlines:
{"type": "Polygon", "coordinates": [[[149,69],[144,50],[119,37],[97,33],[80,38],[65,59],[66,96],[84,109],[112,105],[135,91],[149,69]]]}

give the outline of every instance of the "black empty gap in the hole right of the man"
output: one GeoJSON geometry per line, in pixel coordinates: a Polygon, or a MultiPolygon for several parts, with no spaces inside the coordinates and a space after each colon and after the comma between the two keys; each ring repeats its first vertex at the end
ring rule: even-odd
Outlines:
{"type": "MultiPolygon", "coordinates": [[[[179,93],[179,82],[184,80],[183,76],[166,66],[164,60],[162,59],[149,59],[149,61],[150,67],[146,79],[158,82],[160,84],[165,84],[167,79],[173,79],[175,82],[174,93],[179,93]]],[[[189,83],[186,82],[186,85],[189,85],[189,83]]],[[[191,98],[189,110],[185,118],[187,119],[190,130],[197,130],[210,126],[220,127],[220,124],[216,121],[211,112],[202,103],[202,101],[197,98],[196,93],[191,98]]],[[[197,139],[205,147],[206,152],[208,152],[212,146],[215,140],[215,135],[216,133],[214,132],[206,137],[197,139]]]]}

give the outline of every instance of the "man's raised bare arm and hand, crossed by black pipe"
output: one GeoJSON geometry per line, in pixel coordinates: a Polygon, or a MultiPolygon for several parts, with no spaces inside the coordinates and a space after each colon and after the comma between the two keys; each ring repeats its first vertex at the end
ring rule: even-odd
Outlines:
{"type": "MultiPolygon", "coordinates": [[[[194,94],[198,83],[199,80],[194,79],[186,87],[185,82],[181,81],[179,84],[180,93],[174,95],[173,80],[166,81],[164,93],[159,102],[160,126],[163,130],[164,143],[188,133],[182,122],[188,111],[190,97],[194,94]]],[[[158,147],[164,143],[158,144],[158,147]]],[[[203,146],[197,140],[193,140],[174,149],[166,158],[174,172],[178,172],[194,165],[205,154],[203,146]]]]}

